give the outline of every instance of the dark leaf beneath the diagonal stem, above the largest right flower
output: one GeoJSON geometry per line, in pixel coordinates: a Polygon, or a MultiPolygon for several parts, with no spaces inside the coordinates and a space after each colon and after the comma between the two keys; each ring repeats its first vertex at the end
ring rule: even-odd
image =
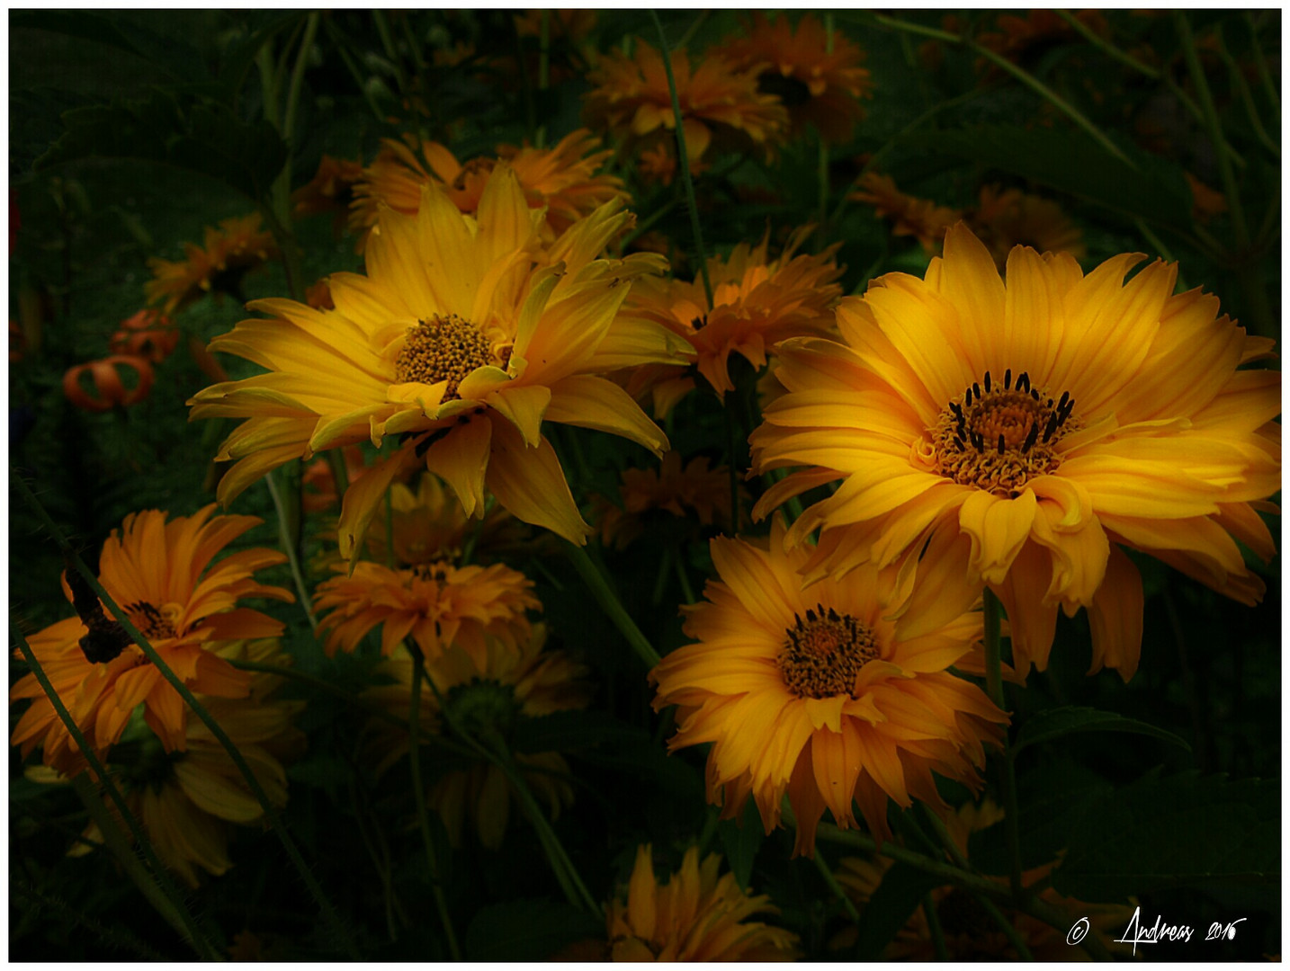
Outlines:
{"type": "Polygon", "coordinates": [[[915,133],[903,147],[968,159],[1158,226],[1191,227],[1192,195],[1180,165],[1121,144],[1135,170],[1078,132],[977,125],[915,133]]]}

